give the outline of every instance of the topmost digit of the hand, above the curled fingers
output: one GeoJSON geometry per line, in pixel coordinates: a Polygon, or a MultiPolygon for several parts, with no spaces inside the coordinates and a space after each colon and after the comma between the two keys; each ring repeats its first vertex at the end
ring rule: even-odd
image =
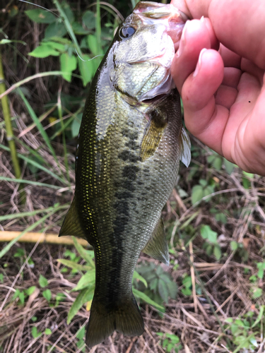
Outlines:
{"type": "Polygon", "coordinates": [[[218,40],[265,68],[264,0],[172,0],[190,18],[210,18],[218,40]]]}

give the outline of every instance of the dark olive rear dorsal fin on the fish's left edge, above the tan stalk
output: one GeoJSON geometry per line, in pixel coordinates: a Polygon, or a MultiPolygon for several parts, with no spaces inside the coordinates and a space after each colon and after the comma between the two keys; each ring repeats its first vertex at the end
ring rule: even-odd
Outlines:
{"type": "Polygon", "coordinates": [[[74,237],[80,237],[86,239],[86,236],[81,228],[77,209],[76,209],[76,198],[73,198],[73,202],[64,218],[63,225],[59,232],[59,237],[63,235],[73,235],[74,237]]]}

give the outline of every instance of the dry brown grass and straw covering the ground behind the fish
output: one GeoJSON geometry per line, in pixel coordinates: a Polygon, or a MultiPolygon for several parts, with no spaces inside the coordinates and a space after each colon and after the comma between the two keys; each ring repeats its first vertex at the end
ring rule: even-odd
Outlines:
{"type": "MultiPolygon", "coordinates": [[[[8,156],[4,153],[1,157],[8,161],[8,156]]],[[[9,168],[4,168],[2,172],[11,176],[11,169],[8,170],[8,173],[7,169],[9,168]]],[[[181,186],[186,184],[184,179],[185,174],[188,173],[189,170],[182,169],[181,186]]],[[[91,349],[90,352],[165,352],[159,344],[157,332],[175,333],[182,342],[183,349],[180,352],[233,352],[226,348],[225,341],[225,339],[231,340],[232,336],[228,331],[225,335],[222,333],[217,317],[221,323],[224,323],[226,318],[237,318],[249,311],[253,311],[257,316],[259,307],[265,304],[264,296],[252,299],[252,285],[249,282],[250,275],[257,274],[256,263],[262,262],[264,255],[263,205],[262,207],[260,205],[264,196],[257,197],[257,194],[263,193],[261,189],[264,188],[264,179],[255,177],[252,181],[252,189],[244,189],[239,184],[240,174],[238,173],[240,171],[237,169],[231,176],[224,172],[213,171],[213,173],[218,179],[225,180],[223,190],[220,188],[220,191],[225,193],[227,204],[216,203],[216,197],[219,196],[213,196],[210,203],[202,203],[199,207],[191,206],[189,198],[182,200],[182,204],[176,205],[175,201],[178,197],[177,191],[175,191],[167,203],[167,210],[171,210],[171,212],[165,213],[165,217],[167,218],[166,225],[170,229],[170,226],[175,225],[176,218],[182,224],[183,220],[187,220],[188,216],[191,217],[199,210],[199,214],[194,217],[191,224],[195,229],[199,229],[201,224],[208,224],[212,229],[216,229],[219,237],[222,234],[220,246],[224,255],[220,261],[216,262],[213,256],[206,255],[202,249],[204,241],[199,235],[189,242],[189,246],[186,248],[184,247],[184,239],[179,238],[179,245],[176,248],[177,255],[171,256],[172,264],[166,268],[179,285],[177,300],[171,299],[169,301],[169,304],[165,306],[166,311],[163,316],[160,316],[150,306],[142,305],[141,311],[146,324],[143,336],[131,339],[114,333],[107,342],[99,345],[96,349],[91,349]],[[232,191],[228,193],[229,190],[232,191]],[[172,205],[175,208],[172,209],[172,205]],[[226,210],[228,213],[226,225],[216,222],[213,215],[209,213],[210,206],[226,210]],[[233,216],[235,210],[240,210],[239,217],[233,216]],[[230,241],[232,240],[243,244],[249,254],[247,262],[243,263],[239,254],[230,250],[230,241]],[[174,261],[179,264],[176,270],[174,270],[174,261]],[[245,273],[246,268],[249,270],[247,274],[245,273]],[[184,273],[192,275],[193,289],[195,285],[201,286],[201,281],[204,282],[206,292],[198,295],[193,290],[190,297],[184,296],[181,292],[184,273]]],[[[187,186],[191,187],[190,183],[187,186]]],[[[21,206],[18,204],[19,196],[16,184],[9,182],[2,184],[2,186],[0,189],[1,200],[5,201],[1,210],[4,213],[47,208],[54,202],[54,193],[49,189],[36,189],[35,186],[27,186],[27,202],[21,206]]],[[[188,188],[186,189],[188,190],[188,188]]],[[[71,193],[68,191],[66,195],[69,200],[71,193]]],[[[61,194],[55,197],[61,198],[61,194]]],[[[66,196],[64,197],[66,198],[66,196]]],[[[62,217],[63,213],[52,215],[39,229],[52,229],[52,231],[58,232],[62,217]]],[[[2,227],[5,230],[23,230],[29,223],[36,222],[38,219],[40,219],[40,215],[14,219],[4,222],[2,227]]],[[[175,230],[173,229],[174,232],[175,230]]],[[[182,232],[185,232],[185,229],[182,229],[182,232]]],[[[6,264],[6,267],[1,270],[4,273],[4,282],[0,285],[0,303],[4,303],[0,313],[2,352],[52,352],[47,350],[48,345],[55,347],[53,352],[81,352],[76,350],[76,333],[82,325],[86,325],[88,322],[89,313],[83,307],[70,325],[66,325],[67,313],[76,298],[76,292],[68,291],[76,285],[80,275],[73,276],[71,273],[62,274],[60,272],[61,267],[57,263],[57,258],[63,257],[65,250],[66,246],[17,243],[1,259],[2,265],[6,264]],[[24,262],[25,258],[21,261],[20,258],[13,257],[18,248],[24,249],[27,256],[33,259],[34,268],[24,262]],[[22,264],[24,265],[23,271],[21,271],[22,264]],[[47,300],[42,297],[38,285],[40,274],[48,279],[53,298],[58,292],[66,295],[66,299],[59,306],[50,307],[47,300]],[[25,302],[25,305],[19,305],[18,299],[12,300],[15,289],[21,291],[33,285],[36,285],[37,288],[25,302]],[[33,316],[37,317],[36,323],[30,320],[33,316]],[[40,332],[44,332],[45,328],[50,328],[52,335],[42,335],[33,339],[31,329],[34,325],[40,332]]],[[[142,256],[140,261],[144,263],[153,260],[142,256]]],[[[263,280],[259,281],[259,287],[264,288],[263,280]]],[[[262,335],[257,337],[257,340],[259,348],[262,347],[262,335]]]]}

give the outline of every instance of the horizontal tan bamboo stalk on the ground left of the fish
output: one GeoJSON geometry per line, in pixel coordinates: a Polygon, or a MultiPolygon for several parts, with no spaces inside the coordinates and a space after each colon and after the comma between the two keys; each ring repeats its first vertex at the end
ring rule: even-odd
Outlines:
{"type": "MultiPolygon", "coordinates": [[[[21,232],[0,232],[0,241],[11,241],[18,237],[21,232]]],[[[36,243],[40,239],[40,243],[57,244],[57,245],[73,245],[71,237],[58,237],[58,234],[43,234],[38,232],[25,233],[18,241],[24,243],[36,243]]],[[[85,239],[77,239],[82,246],[88,246],[85,239]]]]}

